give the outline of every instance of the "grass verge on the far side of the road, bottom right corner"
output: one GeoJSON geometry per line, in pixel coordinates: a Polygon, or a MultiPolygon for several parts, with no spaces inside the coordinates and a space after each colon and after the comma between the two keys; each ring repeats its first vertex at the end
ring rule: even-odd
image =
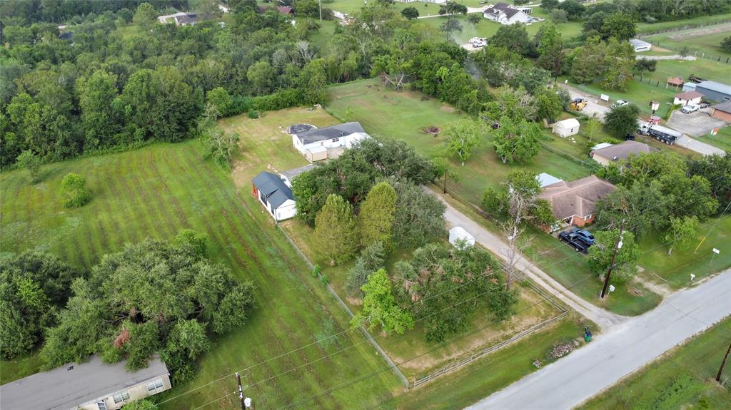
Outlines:
{"type": "MultiPolygon", "coordinates": [[[[731,320],[720,322],[623,379],[580,409],[731,409],[729,382],[716,382],[731,338],[731,320]],[[710,406],[700,406],[701,398],[710,406]]],[[[731,375],[729,363],[724,379],[731,375]]]]}

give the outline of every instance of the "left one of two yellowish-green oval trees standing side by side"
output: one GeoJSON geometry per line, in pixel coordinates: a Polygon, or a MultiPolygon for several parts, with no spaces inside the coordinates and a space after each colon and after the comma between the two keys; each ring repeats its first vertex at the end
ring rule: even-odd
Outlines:
{"type": "Polygon", "coordinates": [[[312,241],[318,257],[330,265],[343,263],[355,255],[358,236],[353,211],[341,196],[327,196],[315,218],[312,241]]]}

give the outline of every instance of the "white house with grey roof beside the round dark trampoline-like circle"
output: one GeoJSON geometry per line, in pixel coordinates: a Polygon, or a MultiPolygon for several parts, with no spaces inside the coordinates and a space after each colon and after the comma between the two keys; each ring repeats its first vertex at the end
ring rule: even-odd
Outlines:
{"type": "Polygon", "coordinates": [[[292,144],[310,162],[327,159],[327,150],[350,148],[370,138],[360,123],[344,123],[292,134],[292,144]]]}

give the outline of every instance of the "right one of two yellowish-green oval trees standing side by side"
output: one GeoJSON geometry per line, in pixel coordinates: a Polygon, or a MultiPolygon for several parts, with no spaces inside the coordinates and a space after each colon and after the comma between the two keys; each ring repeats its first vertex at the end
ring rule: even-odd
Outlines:
{"type": "Polygon", "coordinates": [[[391,249],[396,201],[396,191],[388,182],[379,182],[368,192],[358,214],[358,231],[363,247],[381,242],[387,250],[391,249]]]}

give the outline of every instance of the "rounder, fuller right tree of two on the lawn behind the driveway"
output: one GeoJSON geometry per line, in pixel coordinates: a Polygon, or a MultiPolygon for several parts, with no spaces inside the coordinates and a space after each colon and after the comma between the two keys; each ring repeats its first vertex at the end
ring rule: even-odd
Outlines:
{"type": "Polygon", "coordinates": [[[538,139],[541,130],[537,123],[525,119],[512,120],[510,117],[501,117],[500,128],[493,133],[495,134],[493,147],[503,163],[529,160],[540,151],[538,139]]]}

